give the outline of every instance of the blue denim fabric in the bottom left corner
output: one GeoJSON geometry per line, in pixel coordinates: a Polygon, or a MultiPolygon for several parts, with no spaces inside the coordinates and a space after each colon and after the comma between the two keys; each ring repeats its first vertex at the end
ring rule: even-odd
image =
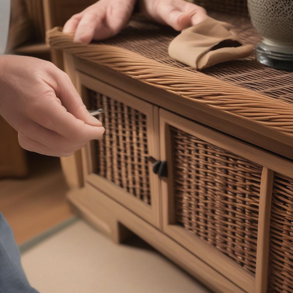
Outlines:
{"type": "Polygon", "coordinates": [[[38,293],[30,287],[13,232],[0,212],[0,293],[38,293]]]}

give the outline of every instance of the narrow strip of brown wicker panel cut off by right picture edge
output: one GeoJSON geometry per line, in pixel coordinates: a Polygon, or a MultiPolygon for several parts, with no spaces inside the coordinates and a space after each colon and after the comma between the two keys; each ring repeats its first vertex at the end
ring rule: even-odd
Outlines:
{"type": "Polygon", "coordinates": [[[269,292],[293,293],[293,179],[275,174],[270,226],[269,292]]]}

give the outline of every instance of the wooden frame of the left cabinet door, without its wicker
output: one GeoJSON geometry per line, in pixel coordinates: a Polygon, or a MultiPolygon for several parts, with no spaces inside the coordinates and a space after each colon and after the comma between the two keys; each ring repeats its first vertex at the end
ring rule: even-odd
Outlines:
{"type": "MultiPolygon", "coordinates": [[[[87,88],[105,94],[114,100],[122,102],[131,108],[144,113],[147,116],[148,155],[157,159],[159,158],[159,126],[157,118],[154,118],[155,116],[158,117],[158,110],[156,107],[150,103],[131,96],[128,93],[120,91],[113,86],[105,84],[101,81],[93,79],[91,76],[87,76],[79,72],[77,74],[77,90],[83,98],[85,105],[88,105],[86,93],[87,88]]],[[[88,182],[95,186],[105,194],[108,194],[110,197],[120,202],[122,205],[127,206],[136,214],[139,214],[149,223],[159,228],[160,184],[158,176],[152,172],[151,162],[149,162],[151,205],[147,205],[146,203],[127,193],[124,189],[115,185],[115,183],[95,174],[94,154],[94,142],[92,141],[88,143],[84,149],[82,149],[84,182],[88,182]]]]}

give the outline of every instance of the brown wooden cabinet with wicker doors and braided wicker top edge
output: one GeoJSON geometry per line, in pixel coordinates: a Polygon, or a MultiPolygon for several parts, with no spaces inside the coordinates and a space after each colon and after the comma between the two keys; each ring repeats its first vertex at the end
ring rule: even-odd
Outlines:
{"type": "MultiPolygon", "coordinates": [[[[157,62],[132,51],[144,45],[135,35],[144,30],[129,30],[126,45],[119,36],[112,45],[81,45],[57,29],[49,33],[87,108],[105,109],[98,117],[103,139],[82,149],[82,166],[79,153],[62,159],[69,182],[81,178],[72,173],[83,177],[69,200],[113,240],[132,231],[213,292],[293,292],[293,102],[286,86],[286,99],[278,100],[271,96],[280,87],[257,80],[250,81],[255,91],[245,88],[248,71],[236,76],[231,64],[224,74],[241,86],[233,76],[215,79],[216,67],[213,76],[184,69],[148,39],[157,62]],[[163,176],[154,162],[166,166],[163,176]]],[[[259,65],[250,59],[245,66],[259,65]]],[[[262,79],[267,70],[258,68],[262,79]]]]}

